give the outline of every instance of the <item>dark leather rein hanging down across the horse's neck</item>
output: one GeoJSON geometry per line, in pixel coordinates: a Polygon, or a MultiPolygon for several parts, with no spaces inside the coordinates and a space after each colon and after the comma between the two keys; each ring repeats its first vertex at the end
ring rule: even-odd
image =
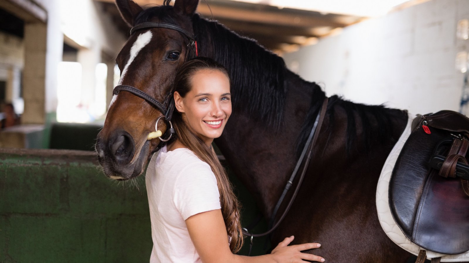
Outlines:
{"type": "Polygon", "coordinates": [[[322,107],[319,109],[318,115],[316,116],[316,120],[314,121],[314,125],[313,125],[313,128],[311,129],[310,136],[308,137],[308,140],[306,141],[306,144],[303,147],[303,151],[301,153],[300,158],[296,162],[295,169],[293,170],[292,175],[288,179],[287,184],[285,185],[285,188],[283,189],[282,195],[280,196],[280,199],[277,202],[277,205],[275,205],[274,211],[272,213],[272,217],[271,217],[270,222],[269,222],[269,227],[271,227],[271,228],[267,232],[262,233],[262,234],[251,234],[251,233],[249,233],[248,229],[243,228],[242,234],[251,237],[249,254],[251,252],[253,238],[271,234],[280,225],[280,223],[282,222],[282,220],[285,218],[288,211],[290,210],[290,207],[293,204],[293,201],[295,200],[296,194],[298,193],[298,190],[300,190],[301,184],[303,183],[304,175],[306,174],[306,170],[308,168],[308,165],[310,164],[311,152],[313,150],[313,146],[316,144],[316,141],[318,140],[319,131],[321,131],[321,126],[322,126],[323,121],[324,121],[325,111],[326,111],[326,108],[327,108],[328,100],[329,99],[327,97],[324,99],[322,107]],[[298,174],[298,170],[301,167],[301,164],[303,163],[303,159],[304,159],[305,156],[306,156],[306,160],[303,164],[303,169],[302,169],[300,177],[298,179],[298,184],[296,185],[295,191],[293,192],[293,195],[290,198],[290,201],[288,202],[287,208],[285,208],[285,210],[283,211],[282,215],[280,216],[280,219],[275,223],[274,226],[272,226],[273,223],[274,223],[277,211],[279,210],[280,205],[283,202],[283,199],[287,195],[288,190],[290,189],[291,185],[293,184],[293,180],[295,180],[295,177],[298,174]]]}

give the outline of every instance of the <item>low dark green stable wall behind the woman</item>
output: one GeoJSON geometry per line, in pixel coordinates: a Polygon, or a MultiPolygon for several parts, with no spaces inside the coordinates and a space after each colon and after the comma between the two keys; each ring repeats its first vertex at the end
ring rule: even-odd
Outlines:
{"type": "MultiPolygon", "coordinates": [[[[95,158],[90,151],[0,149],[0,262],[149,261],[144,176],[133,183],[107,179],[95,158]]],[[[256,205],[231,173],[230,179],[247,225],[256,205]]],[[[264,230],[262,221],[254,233],[264,230]]],[[[265,239],[255,239],[251,255],[264,248],[265,239]]]]}

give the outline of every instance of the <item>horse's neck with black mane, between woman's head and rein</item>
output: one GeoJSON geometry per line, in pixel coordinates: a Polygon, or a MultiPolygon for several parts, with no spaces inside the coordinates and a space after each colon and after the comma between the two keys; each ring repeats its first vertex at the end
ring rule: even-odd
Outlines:
{"type": "Polygon", "coordinates": [[[280,57],[253,40],[198,15],[193,23],[199,54],[226,66],[232,80],[234,114],[217,146],[264,215],[270,216],[295,166],[295,145],[305,118],[315,108],[313,98],[322,102],[324,92],[287,70],[280,57]],[[246,50],[251,50],[251,60],[243,57],[246,50]],[[263,92],[255,94],[256,87],[263,92]],[[259,114],[262,111],[268,114],[259,114]]]}

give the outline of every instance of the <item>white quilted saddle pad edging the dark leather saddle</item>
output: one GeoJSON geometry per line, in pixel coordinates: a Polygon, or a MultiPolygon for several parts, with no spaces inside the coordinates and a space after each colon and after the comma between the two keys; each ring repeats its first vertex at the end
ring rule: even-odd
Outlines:
{"type": "MultiPolygon", "coordinates": [[[[396,143],[391,153],[389,153],[389,156],[387,157],[386,162],[383,166],[383,170],[381,171],[381,175],[379,176],[378,180],[378,188],[376,190],[376,209],[378,210],[379,223],[381,224],[381,227],[383,228],[387,236],[404,250],[407,250],[408,252],[414,255],[418,255],[419,250],[424,248],[421,248],[417,244],[412,243],[406,238],[404,233],[402,233],[401,228],[399,228],[399,226],[393,219],[391,209],[389,208],[388,200],[389,180],[391,178],[394,165],[397,161],[397,157],[399,156],[399,153],[401,153],[402,147],[404,146],[404,143],[410,135],[410,126],[414,117],[415,116],[411,116],[409,114],[407,127],[402,132],[401,138],[399,138],[399,141],[396,143]]],[[[469,251],[458,255],[445,255],[428,250],[426,252],[428,259],[441,256],[441,262],[469,261],[469,251]]]]}

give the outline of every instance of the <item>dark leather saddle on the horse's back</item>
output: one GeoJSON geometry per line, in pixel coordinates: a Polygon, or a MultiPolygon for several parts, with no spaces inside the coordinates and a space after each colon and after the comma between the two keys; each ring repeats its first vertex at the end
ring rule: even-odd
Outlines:
{"type": "Polygon", "coordinates": [[[405,236],[441,254],[469,250],[469,118],[442,110],[417,118],[394,166],[389,205],[405,236]]]}

